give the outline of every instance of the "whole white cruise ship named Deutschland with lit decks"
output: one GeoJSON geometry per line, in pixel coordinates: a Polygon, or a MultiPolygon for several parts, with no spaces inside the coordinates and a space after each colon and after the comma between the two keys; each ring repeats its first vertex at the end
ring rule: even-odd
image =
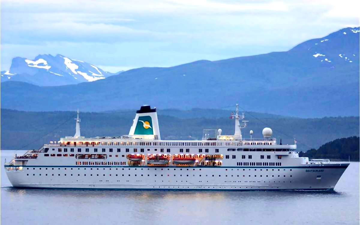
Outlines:
{"type": "Polygon", "coordinates": [[[333,190],[349,163],[299,157],[296,140],[243,138],[238,105],[234,135],[203,130],[202,140],[161,140],[156,108],[136,111],[129,135],[50,141],[5,163],[14,187],[161,190],[333,190]]]}

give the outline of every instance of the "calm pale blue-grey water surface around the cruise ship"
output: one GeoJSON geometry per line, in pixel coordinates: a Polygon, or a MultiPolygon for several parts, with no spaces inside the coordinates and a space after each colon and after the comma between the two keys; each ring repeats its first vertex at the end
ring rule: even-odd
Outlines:
{"type": "Polygon", "coordinates": [[[3,224],[359,224],[359,162],[334,192],[41,190],[11,187],[14,154],[1,151],[3,224]]]}

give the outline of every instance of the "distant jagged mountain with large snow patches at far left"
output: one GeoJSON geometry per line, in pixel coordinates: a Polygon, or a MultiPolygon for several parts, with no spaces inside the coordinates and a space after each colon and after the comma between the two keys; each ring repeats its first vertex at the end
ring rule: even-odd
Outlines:
{"type": "Polygon", "coordinates": [[[33,60],[13,58],[10,69],[1,71],[1,82],[23,81],[39,86],[59,86],[96,81],[114,74],[63,55],[38,55],[33,60]]]}

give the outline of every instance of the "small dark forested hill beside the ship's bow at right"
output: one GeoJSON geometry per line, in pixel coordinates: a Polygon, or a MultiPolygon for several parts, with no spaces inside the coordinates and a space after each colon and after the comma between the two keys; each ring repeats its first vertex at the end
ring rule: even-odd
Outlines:
{"type": "Polygon", "coordinates": [[[300,152],[300,157],[309,158],[330,158],[359,161],[360,139],[352,136],[349,138],[340,138],[321,145],[318,149],[310,149],[306,153],[300,152]]]}

